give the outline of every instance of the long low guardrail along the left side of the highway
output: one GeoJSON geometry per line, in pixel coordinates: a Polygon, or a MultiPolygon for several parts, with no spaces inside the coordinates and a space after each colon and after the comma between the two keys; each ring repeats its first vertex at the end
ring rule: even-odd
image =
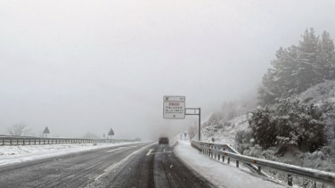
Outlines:
{"type": "Polygon", "coordinates": [[[116,142],[132,142],[132,141],[135,141],[135,140],[86,139],[86,138],[45,138],[45,137],[34,137],[34,136],[0,135],[0,146],[59,144],[59,143],[116,143],[116,142]]]}

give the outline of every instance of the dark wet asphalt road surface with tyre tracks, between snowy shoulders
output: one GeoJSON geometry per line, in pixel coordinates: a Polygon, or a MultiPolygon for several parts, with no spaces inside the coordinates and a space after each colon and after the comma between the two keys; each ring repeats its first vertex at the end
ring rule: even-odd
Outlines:
{"type": "Polygon", "coordinates": [[[0,168],[0,187],[213,187],[170,145],[135,143],[0,168]]]}

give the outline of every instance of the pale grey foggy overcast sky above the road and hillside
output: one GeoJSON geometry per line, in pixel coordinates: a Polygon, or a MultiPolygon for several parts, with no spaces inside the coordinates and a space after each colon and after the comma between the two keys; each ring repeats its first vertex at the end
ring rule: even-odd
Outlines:
{"type": "Polygon", "coordinates": [[[196,117],[162,117],[186,96],[205,119],[255,94],[275,51],[306,28],[335,37],[333,0],[0,1],[0,135],[143,139],[196,117]]]}

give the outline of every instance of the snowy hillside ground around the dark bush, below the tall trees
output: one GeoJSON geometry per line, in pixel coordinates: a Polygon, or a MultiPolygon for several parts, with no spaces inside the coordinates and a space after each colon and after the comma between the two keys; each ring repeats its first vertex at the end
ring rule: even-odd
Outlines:
{"type": "MultiPolygon", "coordinates": [[[[234,148],[239,149],[243,154],[252,157],[265,159],[274,159],[290,164],[317,168],[327,171],[335,171],[335,81],[325,81],[321,84],[310,87],[305,92],[291,97],[290,100],[298,100],[301,103],[308,105],[314,104],[323,111],[323,122],[326,125],[327,143],[323,148],[314,152],[290,151],[284,156],[276,155],[276,148],[267,150],[262,149],[257,144],[253,143],[253,138],[249,129],[249,118],[251,114],[246,112],[233,119],[226,119],[225,114],[220,114],[222,111],[216,112],[216,118],[221,119],[208,120],[202,127],[201,139],[203,141],[215,143],[229,143],[234,148]],[[236,143],[236,134],[241,131],[250,133],[250,143],[243,145],[236,143]],[[240,146],[240,147],[239,147],[240,146]]],[[[253,109],[250,109],[251,111],[253,109]]]]}

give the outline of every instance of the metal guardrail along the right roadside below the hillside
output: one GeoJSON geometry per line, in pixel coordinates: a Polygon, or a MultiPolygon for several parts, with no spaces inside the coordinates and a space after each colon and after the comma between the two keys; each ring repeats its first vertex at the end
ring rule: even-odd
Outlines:
{"type": "Polygon", "coordinates": [[[261,168],[274,168],[288,174],[288,184],[292,186],[292,175],[301,176],[306,179],[314,180],[316,182],[321,182],[324,184],[330,184],[335,187],[335,174],[330,172],[325,172],[321,170],[316,170],[312,168],[301,168],[294,165],[284,164],[280,162],[274,162],[267,159],[257,159],[249,156],[241,155],[238,151],[235,151],[229,144],[222,143],[206,143],[199,141],[192,141],[192,147],[196,148],[202,154],[207,155],[210,158],[222,159],[225,162],[227,158],[227,163],[230,163],[230,159],[236,160],[236,167],[239,168],[240,161],[244,163],[253,172],[257,172],[262,176],[267,176],[261,168]]]}

